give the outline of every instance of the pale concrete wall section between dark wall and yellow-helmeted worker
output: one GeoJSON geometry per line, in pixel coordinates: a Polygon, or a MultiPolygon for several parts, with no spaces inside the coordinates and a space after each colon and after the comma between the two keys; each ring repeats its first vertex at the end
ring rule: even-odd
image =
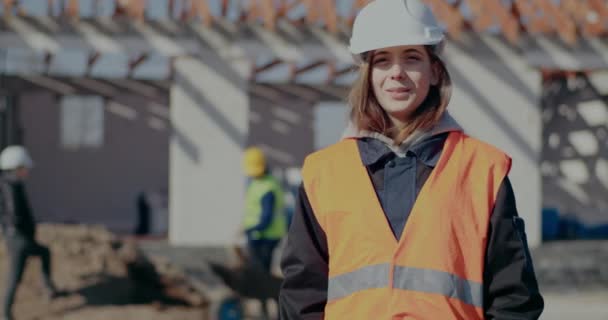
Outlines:
{"type": "Polygon", "coordinates": [[[244,207],[241,156],[247,141],[248,82],[219,57],[180,58],[171,88],[170,230],[179,245],[236,240],[244,207]],[[202,61],[205,61],[203,63],[202,61]]]}

